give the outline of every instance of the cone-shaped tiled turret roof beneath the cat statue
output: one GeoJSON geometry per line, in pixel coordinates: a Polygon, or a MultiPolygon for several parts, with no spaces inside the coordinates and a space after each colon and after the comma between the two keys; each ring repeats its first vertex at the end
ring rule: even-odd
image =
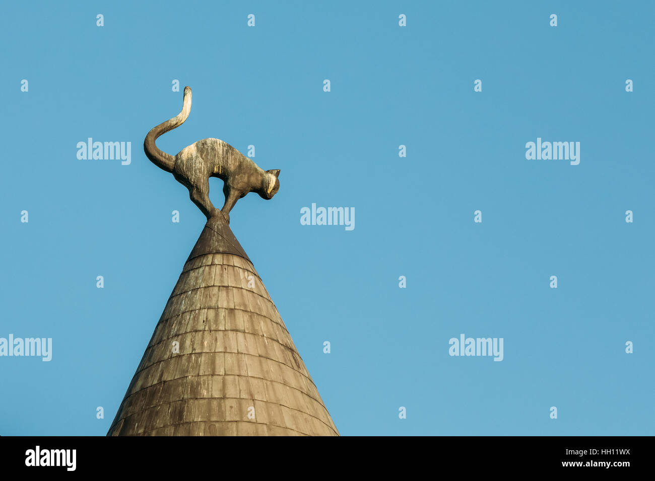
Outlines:
{"type": "Polygon", "coordinates": [[[339,435],[221,216],[191,251],[107,435],[339,435]]]}

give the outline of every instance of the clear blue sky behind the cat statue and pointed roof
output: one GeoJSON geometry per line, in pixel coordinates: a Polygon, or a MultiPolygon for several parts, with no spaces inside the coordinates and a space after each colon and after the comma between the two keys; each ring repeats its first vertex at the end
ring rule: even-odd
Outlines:
{"type": "Polygon", "coordinates": [[[0,337],[52,338],[53,352],[0,357],[0,435],[105,435],[115,416],[205,222],[143,154],[181,109],[174,79],[193,107],[162,150],[217,137],[282,171],[231,228],[342,435],[654,435],[654,14],[6,3],[0,337]],[[130,141],[132,163],[78,160],[87,137],[130,141]],[[526,160],[537,137],[579,141],[580,164],[526,160]],[[301,225],[312,203],[354,207],[354,230],[301,225]],[[503,361],[451,357],[462,333],[504,338],[503,361]]]}

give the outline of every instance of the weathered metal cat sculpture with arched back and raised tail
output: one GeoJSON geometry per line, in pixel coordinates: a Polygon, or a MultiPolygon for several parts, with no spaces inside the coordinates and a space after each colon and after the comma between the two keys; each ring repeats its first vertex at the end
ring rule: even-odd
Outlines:
{"type": "Polygon", "coordinates": [[[250,158],[219,139],[202,139],[182,149],[176,156],[159,150],[157,137],[180,126],[191,112],[191,88],[184,88],[182,111],[153,128],[143,141],[147,157],[159,168],[172,172],[179,183],[189,189],[189,197],[207,219],[219,212],[227,223],[236,201],[248,192],[257,192],[263,199],[272,199],[280,188],[280,169],[264,171],[250,158]],[[209,178],[223,180],[225,204],[216,209],[209,198],[209,178]]]}

